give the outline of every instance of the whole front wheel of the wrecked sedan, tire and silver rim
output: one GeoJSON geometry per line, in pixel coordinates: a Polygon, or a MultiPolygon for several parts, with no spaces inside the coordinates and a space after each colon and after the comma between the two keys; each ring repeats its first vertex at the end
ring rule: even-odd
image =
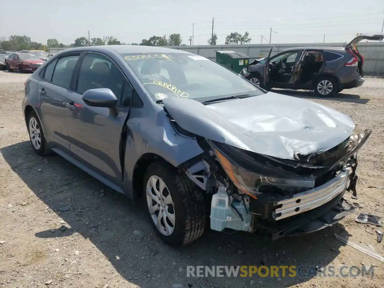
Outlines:
{"type": "Polygon", "coordinates": [[[203,190],[166,162],[152,163],[144,175],[144,194],[151,223],[173,247],[197,240],[207,223],[203,190]]]}

